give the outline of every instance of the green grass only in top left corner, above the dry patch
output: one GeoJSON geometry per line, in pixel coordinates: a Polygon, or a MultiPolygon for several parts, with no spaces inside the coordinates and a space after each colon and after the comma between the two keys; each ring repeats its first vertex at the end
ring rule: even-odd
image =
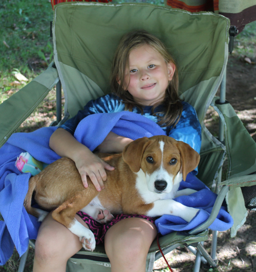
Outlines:
{"type": "MultiPolygon", "coordinates": [[[[7,75],[14,67],[23,74],[31,74],[31,63],[38,60],[39,52],[46,58],[50,56],[52,17],[53,11],[48,0],[1,1],[0,50],[4,56],[0,60],[1,74],[7,75]]],[[[44,60],[41,56],[39,59],[44,60]]],[[[40,65],[40,68],[45,66],[42,62],[40,65]]]]}

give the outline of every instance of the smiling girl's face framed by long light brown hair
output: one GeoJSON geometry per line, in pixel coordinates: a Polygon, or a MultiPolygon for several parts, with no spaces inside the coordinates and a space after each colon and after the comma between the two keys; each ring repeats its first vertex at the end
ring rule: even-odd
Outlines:
{"type": "Polygon", "coordinates": [[[124,77],[126,92],[140,105],[161,104],[168,83],[173,79],[175,64],[166,63],[159,52],[146,44],[131,51],[129,64],[124,77]]]}

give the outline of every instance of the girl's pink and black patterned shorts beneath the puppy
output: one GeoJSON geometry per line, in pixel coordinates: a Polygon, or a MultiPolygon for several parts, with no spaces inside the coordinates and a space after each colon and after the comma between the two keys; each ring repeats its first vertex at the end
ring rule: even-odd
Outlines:
{"type": "Polygon", "coordinates": [[[155,219],[152,217],[148,217],[145,215],[127,215],[127,214],[118,214],[114,217],[114,219],[112,219],[111,221],[109,221],[106,224],[101,224],[99,222],[97,222],[96,220],[94,220],[90,215],[84,213],[84,212],[77,212],[77,215],[79,215],[82,220],[89,226],[89,229],[93,232],[94,236],[95,236],[95,240],[96,240],[96,244],[100,244],[104,242],[104,236],[106,234],[106,231],[109,230],[109,228],[114,225],[115,223],[121,221],[122,219],[125,218],[134,218],[134,217],[138,217],[138,218],[143,218],[145,220],[148,220],[152,223],[155,223],[155,219]]]}

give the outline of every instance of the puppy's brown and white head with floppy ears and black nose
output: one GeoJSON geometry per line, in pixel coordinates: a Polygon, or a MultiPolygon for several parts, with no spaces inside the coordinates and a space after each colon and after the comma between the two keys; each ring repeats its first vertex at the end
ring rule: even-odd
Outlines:
{"type": "Polygon", "coordinates": [[[188,144],[167,136],[140,138],[127,145],[123,160],[137,173],[145,174],[148,190],[169,193],[199,164],[200,155],[188,144]]]}

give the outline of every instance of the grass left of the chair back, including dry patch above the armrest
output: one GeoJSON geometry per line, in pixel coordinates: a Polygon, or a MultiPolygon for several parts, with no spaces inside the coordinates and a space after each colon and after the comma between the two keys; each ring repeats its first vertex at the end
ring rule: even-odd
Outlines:
{"type": "Polygon", "coordinates": [[[0,103],[27,83],[12,72],[19,71],[29,82],[48,66],[52,17],[48,0],[1,0],[0,103]]]}

